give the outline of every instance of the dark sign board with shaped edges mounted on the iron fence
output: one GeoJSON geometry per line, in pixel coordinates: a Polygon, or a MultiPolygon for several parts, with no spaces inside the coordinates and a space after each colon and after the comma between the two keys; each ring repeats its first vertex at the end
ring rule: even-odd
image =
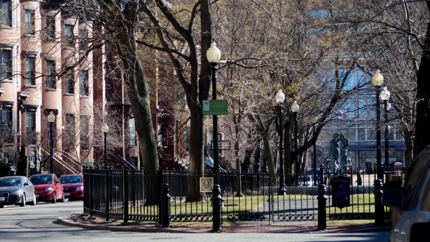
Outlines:
{"type": "Polygon", "coordinates": [[[332,179],[332,205],[337,208],[351,206],[349,188],[349,178],[346,176],[337,176],[332,179]]]}

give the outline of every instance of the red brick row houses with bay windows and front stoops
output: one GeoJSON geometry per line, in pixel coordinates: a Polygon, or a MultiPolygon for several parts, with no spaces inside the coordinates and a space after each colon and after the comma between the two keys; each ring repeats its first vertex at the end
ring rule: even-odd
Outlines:
{"type": "MultiPolygon", "coordinates": [[[[21,147],[29,147],[32,153],[36,147],[41,160],[48,157],[47,115],[52,111],[56,116],[54,166],[64,173],[79,172],[82,164],[91,164],[103,157],[101,127],[109,117],[114,119],[111,127],[114,134],[108,134],[108,140],[114,144],[112,149],[108,148],[110,164],[139,168],[139,141],[133,112],[124,80],[115,69],[114,53],[107,51],[106,46],[89,51],[88,40],[94,29],[91,22],[83,23],[70,13],[58,11],[55,4],[59,2],[49,3],[46,7],[35,1],[2,0],[0,3],[0,144],[3,151],[16,153],[21,147]],[[88,56],[84,62],[70,68],[85,54],[88,56]],[[56,78],[55,74],[61,72],[64,75],[56,78]]],[[[149,71],[147,76],[157,78],[157,73],[149,71]]],[[[179,140],[183,143],[183,135],[177,134],[176,139],[163,137],[167,132],[177,133],[176,120],[172,115],[160,115],[157,98],[155,87],[151,89],[151,109],[155,138],[161,147],[160,164],[173,169],[175,160],[178,161],[178,149],[184,147],[177,144],[179,140]]],[[[186,153],[183,150],[180,153],[182,160],[186,153]]],[[[37,162],[33,168],[41,169],[37,162]]]]}

